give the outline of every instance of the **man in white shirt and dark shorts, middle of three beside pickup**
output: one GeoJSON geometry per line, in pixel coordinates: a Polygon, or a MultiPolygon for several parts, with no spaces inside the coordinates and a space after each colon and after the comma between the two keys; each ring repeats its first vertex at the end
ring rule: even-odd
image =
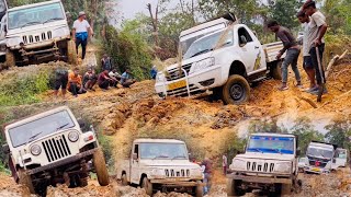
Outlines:
{"type": "Polygon", "coordinates": [[[309,55],[309,44],[308,44],[308,34],[309,34],[309,16],[306,15],[304,11],[299,11],[297,13],[298,21],[304,25],[304,37],[303,37],[303,55],[304,55],[304,62],[303,67],[308,76],[309,80],[309,88],[306,90],[306,92],[313,92],[318,86],[316,85],[316,71],[315,67],[312,63],[312,58],[309,55]]]}

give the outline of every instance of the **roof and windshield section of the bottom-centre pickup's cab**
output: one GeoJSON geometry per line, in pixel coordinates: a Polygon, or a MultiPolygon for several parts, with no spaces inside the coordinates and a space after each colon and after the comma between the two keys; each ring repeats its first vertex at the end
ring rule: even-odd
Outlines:
{"type": "Polygon", "coordinates": [[[147,140],[134,142],[133,160],[189,160],[184,142],[178,140],[147,140]]]}

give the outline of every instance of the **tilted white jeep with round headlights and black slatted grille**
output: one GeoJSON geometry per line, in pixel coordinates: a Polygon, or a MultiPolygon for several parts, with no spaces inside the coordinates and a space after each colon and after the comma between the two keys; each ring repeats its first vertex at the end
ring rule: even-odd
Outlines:
{"type": "Polygon", "coordinates": [[[32,194],[45,194],[48,185],[86,186],[93,171],[99,184],[109,184],[103,152],[97,135],[82,131],[68,107],[58,107],[4,127],[9,166],[15,182],[32,194]],[[92,161],[93,167],[88,163],[92,161]]]}

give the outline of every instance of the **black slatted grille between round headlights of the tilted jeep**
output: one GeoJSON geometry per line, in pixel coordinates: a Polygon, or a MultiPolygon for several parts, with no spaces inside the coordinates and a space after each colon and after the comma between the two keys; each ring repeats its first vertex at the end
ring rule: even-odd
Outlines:
{"type": "Polygon", "coordinates": [[[70,155],[65,135],[57,136],[42,142],[48,162],[60,160],[70,155]]]}

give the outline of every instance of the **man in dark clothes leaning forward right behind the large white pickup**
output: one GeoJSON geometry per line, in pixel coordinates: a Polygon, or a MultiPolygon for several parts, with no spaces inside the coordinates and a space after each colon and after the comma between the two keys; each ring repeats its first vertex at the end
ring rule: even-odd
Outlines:
{"type": "Polygon", "coordinates": [[[299,55],[299,47],[293,34],[285,27],[279,25],[276,21],[270,21],[268,23],[268,28],[275,33],[284,45],[284,48],[279,53],[276,59],[281,59],[282,55],[286,51],[286,57],[284,58],[282,65],[282,85],[279,88],[280,91],[288,90],[287,86],[287,67],[292,65],[292,69],[295,73],[295,79],[297,81],[297,86],[302,88],[301,76],[297,69],[297,59],[299,55]]]}

